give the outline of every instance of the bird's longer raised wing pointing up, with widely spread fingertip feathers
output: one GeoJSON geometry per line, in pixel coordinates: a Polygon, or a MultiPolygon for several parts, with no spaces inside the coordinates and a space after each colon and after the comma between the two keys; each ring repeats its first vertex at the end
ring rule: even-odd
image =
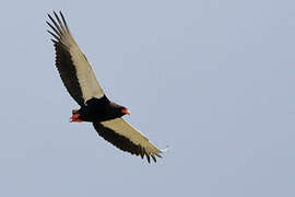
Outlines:
{"type": "Polygon", "coordinates": [[[62,13],[59,13],[62,21],[54,12],[56,20],[48,14],[51,23],[46,22],[51,28],[47,32],[55,38],[51,40],[56,48],[56,66],[70,95],[83,106],[87,100],[103,97],[105,93],[90,62],[71,35],[62,13]]]}

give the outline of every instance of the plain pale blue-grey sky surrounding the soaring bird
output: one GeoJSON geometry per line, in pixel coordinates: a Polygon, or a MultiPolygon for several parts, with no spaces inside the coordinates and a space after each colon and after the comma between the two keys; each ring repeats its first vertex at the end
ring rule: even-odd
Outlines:
{"type": "Polygon", "coordinates": [[[0,196],[295,196],[295,2],[5,1],[0,196]],[[55,68],[61,10],[106,94],[161,149],[119,151],[55,68]]]}

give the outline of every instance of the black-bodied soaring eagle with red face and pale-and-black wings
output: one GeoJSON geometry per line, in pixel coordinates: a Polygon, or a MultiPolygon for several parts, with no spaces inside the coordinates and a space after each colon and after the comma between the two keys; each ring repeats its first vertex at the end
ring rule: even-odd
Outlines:
{"type": "Polygon", "coordinates": [[[126,121],[122,116],[130,115],[127,107],[110,101],[99,85],[92,66],[74,40],[61,11],[59,15],[48,14],[56,51],[56,67],[59,76],[80,109],[72,109],[71,123],[92,123],[98,136],[118,149],[131,154],[151,159],[162,158],[163,150],[154,146],[143,134],[126,121]]]}

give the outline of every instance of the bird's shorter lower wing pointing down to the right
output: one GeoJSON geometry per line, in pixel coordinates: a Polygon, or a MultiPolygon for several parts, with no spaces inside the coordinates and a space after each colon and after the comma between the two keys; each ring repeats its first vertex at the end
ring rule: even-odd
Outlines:
{"type": "Polygon", "coordinates": [[[162,151],[122,118],[102,123],[95,121],[93,126],[99,136],[122,151],[141,155],[141,158],[145,155],[149,163],[150,157],[154,162],[156,162],[155,157],[162,158],[162,151]]]}

